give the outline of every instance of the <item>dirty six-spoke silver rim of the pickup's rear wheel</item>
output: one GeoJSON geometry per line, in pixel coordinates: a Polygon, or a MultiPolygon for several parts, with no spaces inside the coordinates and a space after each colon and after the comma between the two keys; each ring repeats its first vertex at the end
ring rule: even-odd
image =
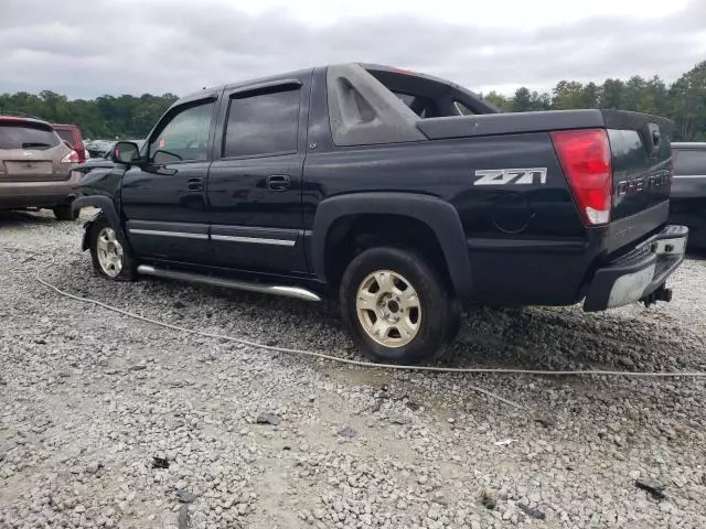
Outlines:
{"type": "Polygon", "coordinates": [[[367,276],[357,289],[355,310],[367,335],[385,347],[403,347],[419,332],[419,296],[397,272],[378,270],[367,276]]]}

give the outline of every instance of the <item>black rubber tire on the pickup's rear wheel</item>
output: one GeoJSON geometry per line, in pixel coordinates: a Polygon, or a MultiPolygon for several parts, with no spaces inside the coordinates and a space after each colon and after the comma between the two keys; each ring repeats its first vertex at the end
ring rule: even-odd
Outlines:
{"type": "MultiPolygon", "coordinates": [[[[411,365],[437,357],[452,331],[449,326],[449,316],[453,312],[452,298],[445,282],[424,257],[407,249],[371,248],[356,256],[343,273],[339,298],[341,314],[351,336],[359,348],[374,361],[411,365]],[[396,346],[384,345],[368,334],[359,317],[356,306],[359,288],[370,274],[377,271],[391,271],[404,277],[417,293],[418,327],[409,343],[396,346]]],[[[399,311],[399,306],[395,306],[395,311],[399,311]]],[[[373,310],[366,313],[372,313],[371,320],[379,317],[375,316],[376,313],[373,310]]],[[[399,332],[393,330],[393,333],[402,337],[399,332]]]]}

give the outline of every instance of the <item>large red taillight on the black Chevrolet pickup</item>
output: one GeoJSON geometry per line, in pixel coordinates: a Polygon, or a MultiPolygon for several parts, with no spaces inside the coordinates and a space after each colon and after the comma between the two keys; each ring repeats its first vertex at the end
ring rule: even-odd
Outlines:
{"type": "Polygon", "coordinates": [[[588,226],[610,222],[613,171],[605,129],[552,132],[564,174],[588,226]]]}

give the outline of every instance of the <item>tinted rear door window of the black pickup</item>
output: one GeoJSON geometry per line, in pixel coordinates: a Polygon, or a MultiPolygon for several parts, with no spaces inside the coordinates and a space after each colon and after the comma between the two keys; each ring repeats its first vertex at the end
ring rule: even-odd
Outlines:
{"type": "Polygon", "coordinates": [[[223,158],[297,151],[300,90],[232,98],[223,158]]]}

